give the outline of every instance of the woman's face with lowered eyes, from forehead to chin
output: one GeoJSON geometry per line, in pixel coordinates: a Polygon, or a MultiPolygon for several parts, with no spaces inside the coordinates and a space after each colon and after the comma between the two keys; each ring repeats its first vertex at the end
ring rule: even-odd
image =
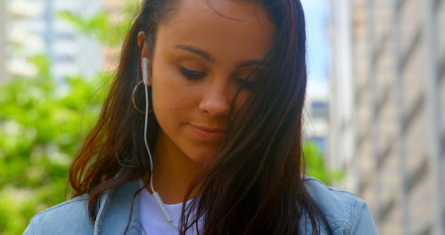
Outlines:
{"type": "MultiPolygon", "coordinates": [[[[207,163],[225,136],[229,110],[245,78],[267,54],[274,26],[250,1],[183,0],[158,27],[150,59],[156,143],[207,163]],[[222,16],[223,15],[223,16],[222,16]]],[[[258,72],[260,72],[259,70],[258,72]]],[[[250,91],[241,91],[234,110],[250,91]]],[[[261,115],[261,114],[259,114],[261,115]]]]}

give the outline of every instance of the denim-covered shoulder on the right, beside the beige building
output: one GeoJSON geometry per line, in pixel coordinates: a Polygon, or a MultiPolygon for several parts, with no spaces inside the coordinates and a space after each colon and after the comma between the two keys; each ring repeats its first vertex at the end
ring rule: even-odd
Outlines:
{"type": "Polygon", "coordinates": [[[333,234],[377,234],[364,200],[312,177],[305,177],[305,187],[323,212],[333,234]]]}

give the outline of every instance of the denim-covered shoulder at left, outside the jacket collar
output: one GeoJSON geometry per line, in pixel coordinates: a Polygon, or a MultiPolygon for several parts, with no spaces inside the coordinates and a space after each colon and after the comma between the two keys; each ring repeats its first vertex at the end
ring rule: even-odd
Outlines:
{"type": "Polygon", "coordinates": [[[35,215],[24,234],[89,234],[92,223],[87,211],[88,196],[81,195],[35,215]]]}

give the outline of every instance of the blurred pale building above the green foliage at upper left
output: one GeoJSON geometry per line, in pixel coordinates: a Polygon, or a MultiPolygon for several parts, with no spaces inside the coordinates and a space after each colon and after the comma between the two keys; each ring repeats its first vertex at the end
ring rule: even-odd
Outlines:
{"type": "Polygon", "coordinates": [[[0,43],[6,50],[0,54],[5,67],[1,74],[6,74],[2,76],[33,76],[37,68],[29,59],[35,54],[48,56],[51,74],[57,79],[89,76],[102,67],[99,44],[58,17],[62,11],[92,15],[100,7],[97,1],[14,0],[0,4],[0,31],[5,32],[0,33],[0,43]]]}

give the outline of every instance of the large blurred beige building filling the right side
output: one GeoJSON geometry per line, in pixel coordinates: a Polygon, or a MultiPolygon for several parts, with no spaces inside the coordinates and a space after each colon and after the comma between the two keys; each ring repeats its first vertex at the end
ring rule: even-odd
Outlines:
{"type": "Polygon", "coordinates": [[[445,234],[445,1],[331,6],[330,165],[380,234],[445,234]]]}

